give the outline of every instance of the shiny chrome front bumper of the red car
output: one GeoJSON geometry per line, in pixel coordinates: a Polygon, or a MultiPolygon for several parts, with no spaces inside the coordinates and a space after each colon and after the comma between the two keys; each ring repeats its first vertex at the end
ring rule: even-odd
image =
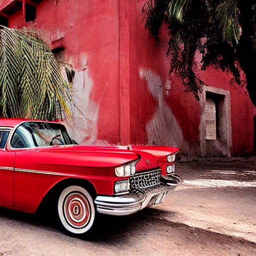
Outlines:
{"type": "Polygon", "coordinates": [[[169,196],[183,179],[177,174],[161,176],[161,187],[152,188],[147,192],[133,192],[119,196],[98,195],[94,202],[99,213],[109,215],[128,215],[152,204],[157,204],[169,196]]]}

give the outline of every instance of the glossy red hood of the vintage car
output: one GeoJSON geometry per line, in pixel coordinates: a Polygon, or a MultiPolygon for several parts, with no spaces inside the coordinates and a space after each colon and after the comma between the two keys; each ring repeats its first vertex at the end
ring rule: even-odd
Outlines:
{"type": "Polygon", "coordinates": [[[129,150],[123,146],[65,145],[16,151],[16,157],[19,159],[24,154],[31,159],[32,165],[114,167],[139,160],[136,171],[159,167],[156,158],[149,152],[129,150]]]}

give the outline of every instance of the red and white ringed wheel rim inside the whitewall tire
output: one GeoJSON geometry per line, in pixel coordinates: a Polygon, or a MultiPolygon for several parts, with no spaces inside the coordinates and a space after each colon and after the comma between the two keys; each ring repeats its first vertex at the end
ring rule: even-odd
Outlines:
{"type": "Polygon", "coordinates": [[[63,211],[67,222],[76,228],[84,227],[90,217],[90,207],[87,199],[77,192],[66,197],[63,211]]]}

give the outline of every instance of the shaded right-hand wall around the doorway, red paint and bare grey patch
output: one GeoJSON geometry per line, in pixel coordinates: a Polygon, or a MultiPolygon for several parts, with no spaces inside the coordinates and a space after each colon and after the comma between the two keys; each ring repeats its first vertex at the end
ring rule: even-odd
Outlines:
{"type": "MultiPolygon", "coordinates": [[[[136,3],[136,65],[137,83],[131,86],[131,98],[136,104],[131,104],[131,141],[133,143],[168,144],[179,146],[184,153],[205,156],[202,144],[200,121],[204,102],[197,102],[191,93],[185,93],[178,78],[168,77],[167,31],[162,31],[161,46],[156,47],[152,38],[148,37],[141,23],[141,8],[145,0],[136,3]]],[[[200,56],[198,56],[199,63],[200,56]]],[[[230,85],[231,76],[210,69],[201,72],[206,84],[230,92],[232,141],[224,143],[229,149],[221,150],[222,141],[217,145],[216,155],[245,155],[252,153],[253,146],[253,110],[244,87],[230,85]],[[222,153],[221,153],[222,152],[222,153]]],[[[205,93],[203,94],[205,96],[205,93]]],[[[205,97],[200,95],[201,100],[205,97]]],[[[225,137],[225,136],[224,136],[225,137]]],[[[210,141],[208,141],[210,142],[210,141]]],[[[207,143],[208,143],[207,142],[207,143]]],[[[214,141],[213,141],[214,142],[214,141]]],[[[210,144],[209,144],[210,145],[210,144]]],[[[206,149],[205,149],[206,151],[206,149]]],[[[211,151],[214,155],[214,150],[211,151]]]]}

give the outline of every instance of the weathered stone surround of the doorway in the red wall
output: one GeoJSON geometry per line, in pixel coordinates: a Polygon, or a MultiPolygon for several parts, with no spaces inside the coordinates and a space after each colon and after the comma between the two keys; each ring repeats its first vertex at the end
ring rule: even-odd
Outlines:
{"type": "Polygon", "coordinates": [[[230,156],[232,147],[230,92],[212,86],[204,85],[200,95],[200,156],[230,156]],[[216,139],[206,139],[205,102],[206,96],[215,98],[216,104],[216,139]]]}

